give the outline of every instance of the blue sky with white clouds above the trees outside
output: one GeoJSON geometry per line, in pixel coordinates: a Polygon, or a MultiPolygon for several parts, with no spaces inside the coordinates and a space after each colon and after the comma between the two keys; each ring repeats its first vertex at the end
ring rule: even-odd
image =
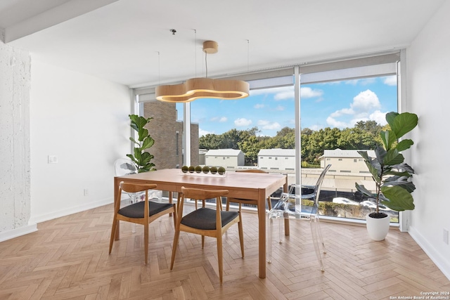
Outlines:
{"type": "MultiPolygon", "coordinates": [[[[397,111],[395,76],[373,77],[323,84],[302,84],[302,129],[345,129],[356,122],[374,120],[385,125],[385,114],[397,111]]],[[[182,106],[178,105],[182,117],[182,106]]],[[[295,127],[294,87],[250,91],[239,100],[197,99],[191,102],[191,122],[199,135],[257,126],[259,136],[275,136],[285,126],[295,127]]]]}

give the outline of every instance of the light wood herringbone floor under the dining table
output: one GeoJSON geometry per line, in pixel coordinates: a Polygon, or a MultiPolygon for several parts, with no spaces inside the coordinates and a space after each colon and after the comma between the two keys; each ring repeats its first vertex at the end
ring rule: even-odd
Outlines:
{"type": "MultiPolygon", "coordinates": [[[[267,278],[258,278],[257,215],[245,213],[245,258],[238,228],[224,236],[224,284],[216,242],[181,233],[169,270],[174,226],[169,216],[150,225],[149,264],[143,230],[121,223],[108,255],[113,206],[40,223],[39,231],[0,242],[0,299],[394,299],[448,292],[450,282],[407,233],[390,230],[373,242],[366,228],[322,222],[328,247],[319,270],[309,223],[291,221],[283,244],[274,240],[267,278]]],[[[275,226],[278,226],[276,222],[275,226]]],[[[448,296],[448,295],[447,295],[448,296]]],[[[412,299],[412,298],[411,298],[412,299]]]]}

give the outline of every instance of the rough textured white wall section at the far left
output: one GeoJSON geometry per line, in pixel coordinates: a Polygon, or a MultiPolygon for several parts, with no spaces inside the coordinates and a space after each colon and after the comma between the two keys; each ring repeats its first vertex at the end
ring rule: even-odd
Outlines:
{"type": "Polygon", "coordinates": [[[29,119],[30,55],[0,41],[0,233],[30,219],[29,119]]]}

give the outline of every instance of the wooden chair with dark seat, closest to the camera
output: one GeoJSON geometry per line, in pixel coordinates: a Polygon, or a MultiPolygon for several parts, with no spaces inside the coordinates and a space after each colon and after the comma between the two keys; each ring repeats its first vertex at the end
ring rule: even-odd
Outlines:
{"type": "Polygon", "coordinates": [[[205,246],[205,236],[215,237],[217,239],[217,261],[219,261],[219,280],[221,284],[223,278],[222,235],[234,223],[238,223],[240,252],[242,257],[244,257],[244,239],[240,211],[222,210],[221,196],[227,195],[229,193],[228,190],[200,190],[197,188],[181,187],[181,193],[182,200],[179,204],[178,219],[175,226],[170,270],[174,268],[176,247],[178,246],[180,231],[202,235],[202,249],[205,246]],[[216,209],[207,208],[205,207],[205,204],[203,204],[203,207],[195,209],[195,211],[183,216],[183,204],[186,198],[192,200],[216,198],[216,209]]]}

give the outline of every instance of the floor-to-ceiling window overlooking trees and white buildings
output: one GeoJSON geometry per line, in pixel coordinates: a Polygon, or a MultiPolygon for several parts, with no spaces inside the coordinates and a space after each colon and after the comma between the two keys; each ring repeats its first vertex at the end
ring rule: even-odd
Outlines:
{"type": "MultiPolygon", "coordinates": [[[[299,95],[291,67],[243,75],[240,79],[250,82],[248,98],[170,103],[176,122],[184,124],[173,133],[175,155],[181,155],[173,167],[264,169],[288,174],[290,184],[309,185],[332,164],[323,183],[321,214],[364,219],[373,202],[356,193],[354,183],[371,188],[373,181],[356,151],[373,149],[385,113],[397,111],[398,60],[399,53],[389,53],[297,66],[299,95]]],[[[150,95],[151,89],[142,93],[150,95]]],[[[389,212],[398,221],[398,214],[389,212]]]]}

